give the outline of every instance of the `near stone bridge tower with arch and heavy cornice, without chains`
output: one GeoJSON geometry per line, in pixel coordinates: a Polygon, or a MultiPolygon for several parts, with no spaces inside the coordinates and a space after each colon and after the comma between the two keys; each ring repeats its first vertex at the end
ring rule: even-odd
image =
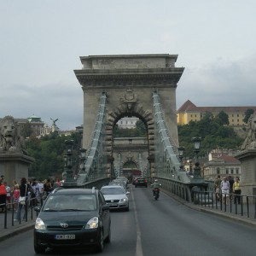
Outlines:
{"type": "Polygon", "coordinates": [[[113,127],[125,116],[136,116],[148,129],[148,161],[154,173],[154,106],[157,91],[166,126],[178,145],[176,88],[183,67],[175,67],[177,55],[90,55],[80,57],[82,69],[74,73],[84,91],[83,147],[88,148],[95,128],[99,100],[107,94],[107,153],[113,161],[113,127]]]}

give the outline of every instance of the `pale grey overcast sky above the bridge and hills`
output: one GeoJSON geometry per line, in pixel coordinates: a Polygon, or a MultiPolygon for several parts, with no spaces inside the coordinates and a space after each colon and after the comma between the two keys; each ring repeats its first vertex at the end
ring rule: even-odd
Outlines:
{"type": "Polygon", "coordinates": [[[83,124],[79,56],[170,54],[177,108],[256,105],[255,0],[0,0],[0,117],[83,124]]]}

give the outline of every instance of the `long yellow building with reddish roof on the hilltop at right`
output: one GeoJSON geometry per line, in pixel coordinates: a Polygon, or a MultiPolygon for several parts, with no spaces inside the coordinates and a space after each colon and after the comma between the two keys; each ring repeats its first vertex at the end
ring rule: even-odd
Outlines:
{"type": "Polygon", "coordinates": [[[187,125],[190,121],[200,121],[203,116],[210,112],[213,116],[224,111],[229,116],[230,125],[241,126],[246,125],[242,119],[245,117],[247,109],[253,109],[256,112],[255,106],[247,107],[196,107],[194,103],[184,102],[177,110],[177,125],[187,125]]]}

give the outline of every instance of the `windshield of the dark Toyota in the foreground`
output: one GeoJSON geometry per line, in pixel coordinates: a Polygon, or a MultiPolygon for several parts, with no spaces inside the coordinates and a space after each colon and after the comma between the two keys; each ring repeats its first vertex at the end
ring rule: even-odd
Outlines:
{"type": "Polygon", "coordinates": [[[44,212],[95,211],[95,195],[49,195],[44,212]]]}

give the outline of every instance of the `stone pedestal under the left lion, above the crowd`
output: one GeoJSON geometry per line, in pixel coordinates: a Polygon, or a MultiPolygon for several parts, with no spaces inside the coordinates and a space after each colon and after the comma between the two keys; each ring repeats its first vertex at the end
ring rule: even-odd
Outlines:
{"type": "Polygon", "coordinates": [[[21,177],[28,177],[28,166],[34,162],[30,156],[21,153],[0,154],[0,175],[12,185],[13,180],[20,184],[21,177]]]}

